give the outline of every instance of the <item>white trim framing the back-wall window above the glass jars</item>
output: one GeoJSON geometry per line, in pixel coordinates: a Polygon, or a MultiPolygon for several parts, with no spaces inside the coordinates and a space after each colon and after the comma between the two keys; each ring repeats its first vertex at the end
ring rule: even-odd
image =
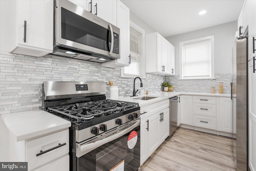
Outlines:
{"type": "Polygon", "coordinates": [[[180,42],[179,44],[180,48],[180,78],[179,80],[206,80],[206,79],[216,79],[214,76],[214,36],[207,36],[203,38],[197,38],[197,39],[192,39],[192,40],[187,40],[180,42]],[[210,56],[210,76],[208,77],[183,77],[183,68],[182,68],[182,63],[183,63],[183,45],[188,44],[188,43],[193,43],[193,42],[200,42],[204,40],[210,40],[210,50],[211,50],[211,56],[210,56]]]}

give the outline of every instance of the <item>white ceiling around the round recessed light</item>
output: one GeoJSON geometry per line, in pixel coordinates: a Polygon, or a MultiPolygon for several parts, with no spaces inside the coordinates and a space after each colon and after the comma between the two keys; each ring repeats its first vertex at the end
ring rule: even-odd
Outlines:
{"type": "Polygon", "coordinates": [[[164,37],[238,20],[244,0],[121,0],[164,37]],[[206,10],[206,14],[198,12],[206,10]]]}

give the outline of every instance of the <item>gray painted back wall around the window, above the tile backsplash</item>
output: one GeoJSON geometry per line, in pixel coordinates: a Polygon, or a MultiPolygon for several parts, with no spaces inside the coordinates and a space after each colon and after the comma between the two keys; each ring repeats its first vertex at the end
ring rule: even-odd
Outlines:
{"type": "Polygon", "coordinates": [[[232,47],[235,42],[235,32],[237,31],[237,21],[220,24],[217,26],[204,28],[184,34],[178,34],[166,38],[175,46],[175,70],[176,75],[180,73],[179,42],[202,38],[214,35],[214,63],[216,74],[231,73],[232,47]]]}

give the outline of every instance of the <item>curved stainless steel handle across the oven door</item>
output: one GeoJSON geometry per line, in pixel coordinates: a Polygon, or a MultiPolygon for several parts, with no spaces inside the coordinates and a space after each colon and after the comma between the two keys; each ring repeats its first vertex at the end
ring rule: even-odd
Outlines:
{"type": "Polygon", "coordinates": [[[140,125],[140,120],[138,120],[136,123],[134,123],[131,127],[121,131],[120,133],[117,133],[115,135],[112,135],[110,137],[102,139],[100,141],[96,141],[94,143],[90,143],[90,144],[86,144],[86,145],[80,146],[80,151],[88,153],[88,152],[96,149],[97,147],[100,147],[101,145],[104,145],[104,144],[106,144],[106,143],[108,143],[110,141],[113,141],[113,140],[115,140],[115,139],[117,139],[119,137],[122,137],[123,135],[125,135],[126,133],[132,131],[132,129],[136,128],[139,125],[140,125]]]}

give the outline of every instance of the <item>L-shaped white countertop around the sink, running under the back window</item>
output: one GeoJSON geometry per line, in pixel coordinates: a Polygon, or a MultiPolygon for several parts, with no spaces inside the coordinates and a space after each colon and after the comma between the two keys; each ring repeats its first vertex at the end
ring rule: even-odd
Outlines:
{"type": "Polygon", "coordinates": [[[215,96],[215,97],[230,97],[230,94],[159,91],[159,92],[155,92],[155,93],[149,93],[148,95],[138,95],[136,97],[118,97],[118,100],[139,103],[140,107],[144,107],[146,105],[150,105],[150,104],[156,103],[158,101],[169,99],[169,98],[177,96],[177,95],[203,95],[203,96],[215,96]],[[143,97],[143,96],[158,97],[158,98],[149,99],[149,100],[134,99],[134,98],[143,97]]]}

